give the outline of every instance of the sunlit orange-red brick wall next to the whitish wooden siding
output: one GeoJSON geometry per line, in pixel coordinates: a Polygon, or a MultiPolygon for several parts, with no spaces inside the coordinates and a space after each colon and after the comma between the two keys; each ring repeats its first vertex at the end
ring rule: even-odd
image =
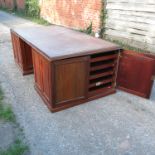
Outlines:
{"type": "Polygon", "coordinates": [[[101,0],[40,0],[41,16],[47,21],[76,29],[93,31],[100,27],[101,0]]]}

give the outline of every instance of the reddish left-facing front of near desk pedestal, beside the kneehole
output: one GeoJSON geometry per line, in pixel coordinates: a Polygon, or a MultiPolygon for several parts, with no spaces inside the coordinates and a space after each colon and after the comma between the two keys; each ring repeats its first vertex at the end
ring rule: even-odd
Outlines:
{"type": "Polygon", "coordinates": [[[34,49],[33,53],[33,65],[34,65],[34,76],[35,84],[43,98],[48,102],[51,101],[51,70],[50,62],[48,62],[42,55],[40,55],[34,49]]]}

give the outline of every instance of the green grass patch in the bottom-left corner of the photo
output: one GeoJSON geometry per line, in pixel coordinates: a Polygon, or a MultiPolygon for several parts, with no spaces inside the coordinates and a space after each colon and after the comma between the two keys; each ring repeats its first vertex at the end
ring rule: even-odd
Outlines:
{"type": "Polygon", "coordinates": [[[28,147],[20,140],[16,140],[7,150],[0,151],[0,155],[23,155],[28,147]]]}

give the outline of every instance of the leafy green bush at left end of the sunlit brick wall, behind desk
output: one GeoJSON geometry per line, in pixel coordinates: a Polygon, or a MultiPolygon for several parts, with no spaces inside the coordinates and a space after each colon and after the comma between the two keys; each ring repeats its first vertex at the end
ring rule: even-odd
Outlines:
{"type": "Polygon", "coordinates": [[[26,0],[25,13],[29,17],[40,18],[40,7],[38,0],[26,0]]]}

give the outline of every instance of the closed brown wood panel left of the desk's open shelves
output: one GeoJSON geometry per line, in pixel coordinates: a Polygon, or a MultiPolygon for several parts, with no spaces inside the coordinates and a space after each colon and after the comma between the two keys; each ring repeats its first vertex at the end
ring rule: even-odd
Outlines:
{"type": "Polygon", "coordinates": [[[54,63],[54,71],[54,101],[56,105],[86,97],[87,57],[57,61],[54,63]]]}

